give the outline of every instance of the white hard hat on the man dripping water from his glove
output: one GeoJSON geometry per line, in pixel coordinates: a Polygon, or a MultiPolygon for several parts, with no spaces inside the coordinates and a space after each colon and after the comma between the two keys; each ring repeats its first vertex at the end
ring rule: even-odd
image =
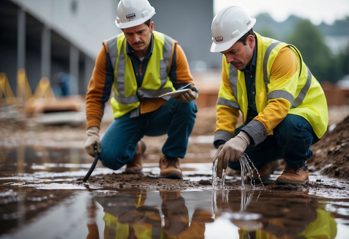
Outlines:
{"type": "Polygon", "coordinates": [[[222,8],[212,20],[211,52],[228,50],[256,23],[256,18],[237,6],[222,8]]]}

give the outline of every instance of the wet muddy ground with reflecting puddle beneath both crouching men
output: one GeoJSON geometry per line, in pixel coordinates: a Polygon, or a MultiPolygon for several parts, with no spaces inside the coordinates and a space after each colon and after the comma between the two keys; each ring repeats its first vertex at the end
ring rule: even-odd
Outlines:
{"type": "Polygon", "coordinates": [[[142,174],[98,163],[86,183],[93,161],[84,150],[86,125],[36,124],[0,113],[0,239],[348,238],[349,106],[329,109],[328,131],[308,160],[310,184],[275,185],[281,160],[264,186],[242,187],[240,173],[227,170],[218,190],[212,188],[214,108],[198,112],[180,160],[183,180],[158,178],[162,136],[143,138],[142,174]]]}

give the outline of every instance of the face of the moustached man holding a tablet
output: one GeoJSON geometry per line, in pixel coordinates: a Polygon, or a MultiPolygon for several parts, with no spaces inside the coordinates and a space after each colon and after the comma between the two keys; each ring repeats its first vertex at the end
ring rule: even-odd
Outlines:
{"type": "Polygon", "coordinates": [[[153,30],[154,22],[151,22],[149,26],[142,23],[141,25],[132,26],[131,28],[124,28],[124,34],[128,44],[130,44],[135,51],[147,51],[153,30]]]}

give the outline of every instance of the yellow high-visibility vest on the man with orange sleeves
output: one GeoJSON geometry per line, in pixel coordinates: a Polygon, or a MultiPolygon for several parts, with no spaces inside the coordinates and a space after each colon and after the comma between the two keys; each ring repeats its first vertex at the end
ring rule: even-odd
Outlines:
{"type": "MultiPolygon", "coordinates": [[[[114,68],[113,95],[110,100],[114,118],[121,117],[140,106],[143,98],[158,98],[159,95],[174,91],[168,76],[175,40],[163,33],[153,31],[154,46],[138,88],[132,61],[126,54],[124,33],[107,41],[110,59],[114,68]]],[[[135,111],[139,114],[139,111],[135,111]]],[[[137,116],[137,115],[133,115],[137,116]]]]}

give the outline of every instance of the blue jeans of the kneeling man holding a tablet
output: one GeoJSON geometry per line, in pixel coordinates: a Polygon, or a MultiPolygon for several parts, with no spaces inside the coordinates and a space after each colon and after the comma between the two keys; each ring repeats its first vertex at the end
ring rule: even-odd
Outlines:
{"type": "Polygon", "coordinates": [[[168,135],[162,153],[184,158],[188,138],[193,130],[196,112],[194,101],[181,103],[170,98],[159,109],[130,118],[130,113],[116,118],[106,130],[99,159],[110,169],[117,170],[132,160],[137,142],[144,136],[168,135]]]}

